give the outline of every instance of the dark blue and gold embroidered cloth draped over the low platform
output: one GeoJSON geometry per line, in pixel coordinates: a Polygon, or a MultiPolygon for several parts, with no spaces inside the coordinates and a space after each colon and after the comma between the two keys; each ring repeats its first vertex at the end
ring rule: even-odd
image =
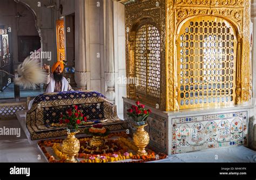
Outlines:
{"type": "Polygon", "coordinates": [[[60,114],[78,105],[78,109],[87,117],[80,132],[93,123],[102,123],[110,131],[125,128],[124,121],[117,116],[114,106],[104,95],[93,92],[60,92],[38,95],[33,101],[32,108],[26,113],[26,126],[30,132],[31,140],[45,139],[66,135],[66,126],[60,126],[60,114]]]}

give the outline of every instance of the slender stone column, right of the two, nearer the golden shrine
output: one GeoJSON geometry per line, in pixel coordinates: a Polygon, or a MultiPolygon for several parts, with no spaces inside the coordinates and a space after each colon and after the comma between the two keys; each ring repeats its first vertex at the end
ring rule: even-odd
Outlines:
{"type": "Polygon", "coordinates": [[[104,44],[105,44],[105,83],[106,98],[114,103],[114,31],[113,31],[113,2],[104,1],[104,44]]]}

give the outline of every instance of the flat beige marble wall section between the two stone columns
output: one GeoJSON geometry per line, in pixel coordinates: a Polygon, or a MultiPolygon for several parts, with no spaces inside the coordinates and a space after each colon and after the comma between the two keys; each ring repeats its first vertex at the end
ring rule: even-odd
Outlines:
{"type": "MultiPolygon", "coordinates": [[[[101,92],[105,94],[104,85],[104,13],[103,13],[103,1],[90,0],[85,3],[87,5],[88,15],[88,28],[89,39],[86,41],[89,43],[89,59],[87,61],[87,72],[90,72],[90,81],[87,84],[87,89],[92,91],[101,92]]],[[[88,56],[86,56],[88,57],[88,56]]]]}

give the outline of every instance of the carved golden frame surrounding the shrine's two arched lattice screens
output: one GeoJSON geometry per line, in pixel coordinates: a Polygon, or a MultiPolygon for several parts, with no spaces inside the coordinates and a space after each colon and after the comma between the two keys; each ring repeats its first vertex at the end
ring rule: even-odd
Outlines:
{"type": "MultiPolygon", "coordinates": [[[[233,79],[228,80],[229,82],[232,81],[233,86],[229,86],[227,88],[225,85],[224,89],[224,91],[231,91],[232,89],[233,94],[232,99],[230,94],[228,94],[228,96],[230,96],[229,100],[227,100],[228,102],[226,101],[225,97],[225,103],[223,103],[240,104],[248,102],[248,100],[250,100],[251,79],[249,0],[149,0],[145,2],[135,1],[125,5],[126,67],[128,67],[126,75],[127,77],[134,77],[134,74],[137,71],[134,68],[134,57],[136,56],[134,54],[134,49],[136,48],[134,46],[134,39],[136,38],[135,29],[138,27],[139,23],[142,22],[143,19],[151,19],[151,22],[154,22],[156,24],[161,39],[160,109],[168,111],[179,110],[181,108],[181,105],[178,103],[178,99],[181,97],[181,92],[180,86],[178,84],[180,80],[178,77],[178,67],[180,68],[180,66],[178,66],[178,56],[180,52],[178,51],[179,47],[177,46],[177,41],[179,37],[179,32],[182,29],[183,25],[193,18],[201,17],[215,18],[217,19],[216,23],[218,23],[218,19],[223,19],[223,21],[225,21],[225,25],[232,26],[234,31],[233,35],[234,37],[236,37],[237,46],[235,47],[234,44],[232,51],[234,57],[234,59],[232,60],[232,70],[234,74],[232,75],[233,79]]],[[[210,27],[207,27],[207,29],[209,30],[210,27]]],[[[227,34],[225,34],[225,36],[227,36],[227,34]]],[[[226,43],[225,45],[227,45],[226,39],[222,39],[221,43],[222,41],[224,41],[224,43],[226,43]]],[[[231,43],[231,41],[229,41],[229,43],[231,43]]],[[[225,50],[225,52],[227,51],[225,50]]],[[[227,58],[227,56],[230,56],[230,52],[228,52],[228,55],[225,54],[225,58],[227,58]]],[[[231,63],[231,61],[229,61],[228,63],[231,63]]],[[[228,70],[230,73],[231,67],[228,68],[230,68],[228,70]]],[[[224,75],[225,74],[221,74],[221,76],[224,75]]],[[[222,85],[220,85],[220,87],[221,86],[222,85]]],[[[216,87],[218,87],[218,85],[216,85],[216,87]]],[[[136,96],[135,89],[136,87],[133,85],[129,84],[129,86],[127,86],[127,94],[129,98],[141,99],[140,96],[136,96]]],[[[216,90],[217,89],[215,89],[215,91],[216,90]]],[[[211,91],[213,91],[212,88],[211,91]]],[[[208,92],[206,94],[208,94],[208,92]]],[[[211,98],[213,100],[212,95],[211,98]]],[[[147,99],[141,100],[143,100],[144,102],[149,102],[147,99]]],[[[159,102],[151,101],[150,103],[154,105],[159,102]]],[[[185,101],[184,104],[186,104],[185,101]]],[[[213,105],[213,103],[211,105],[213,105]]]]}

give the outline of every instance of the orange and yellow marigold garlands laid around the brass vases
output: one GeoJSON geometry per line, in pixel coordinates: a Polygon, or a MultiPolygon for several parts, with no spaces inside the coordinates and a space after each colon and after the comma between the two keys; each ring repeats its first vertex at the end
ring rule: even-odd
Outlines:
{"type": "MultiPolygon", "coordinates": [[[[132,161],[133,163],[140,163],[140,162],[148,162],[148,161],[156,161],[156,160],[161,160],[166,158],[165,154],[158,154],[156,155],[153,151],[147,150],[147,156],[138,156],[138,155],[133,155],[131,152],[128,152],[129,149],[133,151],[137,151],[137,147],[134,145],[134,143],[127,139],[129,135],[127,135],[125,132],[118,132],[118,133],[111,133],[103,139],[107,140],[110,139],[111,137],[119,137],[118,141],[116,141],[116,144],[121,148],[121,150],[113,153],[103,153],[103,154],[98,154],[98,155],[92,155],[92,154],[86,154],[86,153],[79,153],[77,157],[79,158],[85,158],[84,160],[80,161],[82,163],[106,163],[106,162],[115,162],[115,161],[121,161],[121,160],[127,160],[127,159],[132,159],[132,160],[137,160],[137,161],[132,161]]],[[[80,138],[79,142],[80,144],[83,144],[85,142],[90,141],[90,137],[84,137],[80,138]]],[[[45,156],[48,158],[49,162],[65,162],[66,155],[63,154],[60,150],[60,143],[62,143],[63,140],[46,140],[46,141],[39,141],[38,146],[42,149],[43,153],[45,156]],[[45,149],[45,147],[52,147],[53,151],[55,154],[60,158],[60,160],[56,160],[55,157],[50,155],[48,151],[45,149]]],[[[110,140],[111,141],[111,140],[110,140]]]]}

